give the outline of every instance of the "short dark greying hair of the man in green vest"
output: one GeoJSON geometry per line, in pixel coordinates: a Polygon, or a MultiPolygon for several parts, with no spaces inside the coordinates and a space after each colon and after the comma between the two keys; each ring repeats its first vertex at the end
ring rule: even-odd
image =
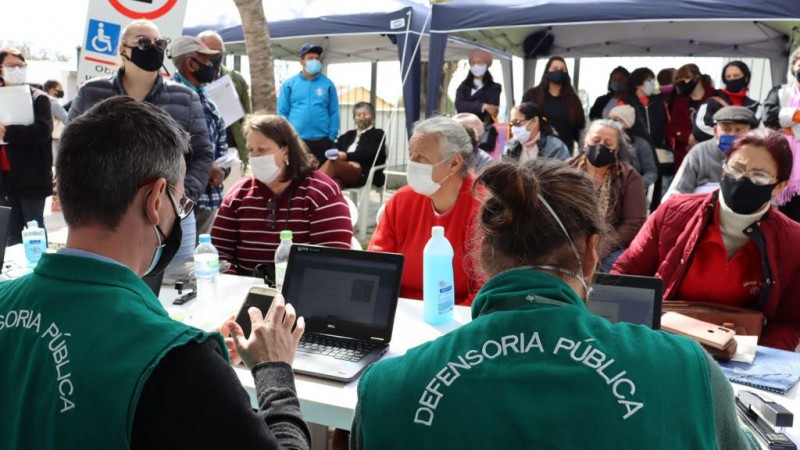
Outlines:
{"type": "Polygon", "coordinates": [[[142,186],[181,181],[188,149],[189,135],[162,109],[127,96],[98,103],[61,135],[56,184],[64,220],[116,229],[142,186]]]}

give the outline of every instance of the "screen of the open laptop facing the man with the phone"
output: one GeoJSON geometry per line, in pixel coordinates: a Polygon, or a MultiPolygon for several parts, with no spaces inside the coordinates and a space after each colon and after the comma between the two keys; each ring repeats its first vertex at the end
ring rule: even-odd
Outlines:
{"type": "Polygon", "coordinates": [[[308,331],[388,338],[402,273],[402,255],[293,245],[282,291],[308,331]]]}

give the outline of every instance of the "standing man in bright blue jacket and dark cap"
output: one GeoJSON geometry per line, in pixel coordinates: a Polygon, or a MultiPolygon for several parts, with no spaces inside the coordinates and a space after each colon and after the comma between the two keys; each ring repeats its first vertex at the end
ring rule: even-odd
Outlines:
{"type": "Polygon", "coordinates": [[[304,44],[300,73],[283,82],[278,114],[285,117],[320,165],[339,135],[339,98],[330,78],[321,74],[322,47],[304,44]]]}

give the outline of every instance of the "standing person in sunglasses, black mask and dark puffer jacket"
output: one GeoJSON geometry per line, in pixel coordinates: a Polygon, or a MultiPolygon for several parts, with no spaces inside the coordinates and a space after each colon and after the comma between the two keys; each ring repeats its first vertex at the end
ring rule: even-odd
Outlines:
{"type": "MultiPolygon", "coordinates": [[[[69,110],[69,120],[81,116],[95,104],[117,95],[127,95],[164,109],[191,136],[186,152],[186,195],[197,201],[205,192],[214,148],[208,135],[203,105],[197,93],[186,86],[165,79],[161,74],[167,40],[153,22],[134,20],[122,29],[119,55],[121,67],[115,75],[87,81],[78,90],[69,110]]],[[[142,130],[146,133],[147,130],[142,130]]],[[[195,216],[181,221],[181,248],[174,265],[191,260],[196,245],[195,216]]],[[[158,276],[159,274],[154,274],[158,276]]]]}

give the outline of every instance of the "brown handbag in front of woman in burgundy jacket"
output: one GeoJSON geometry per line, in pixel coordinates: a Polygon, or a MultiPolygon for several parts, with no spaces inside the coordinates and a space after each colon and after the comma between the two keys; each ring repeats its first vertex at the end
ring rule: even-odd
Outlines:
{"type": "Polygon", "coordinates": [[[740,336],[761,336],[764,314],[754,309],[705,302],[665,300],[663,312],[677,312],[736,331],[740,336]]]}

